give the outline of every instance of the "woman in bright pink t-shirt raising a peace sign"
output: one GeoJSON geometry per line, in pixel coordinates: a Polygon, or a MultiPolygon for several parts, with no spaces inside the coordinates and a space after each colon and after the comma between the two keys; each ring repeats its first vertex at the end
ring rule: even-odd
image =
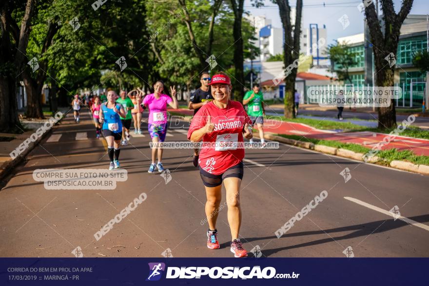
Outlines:
{"type": "MultiPolygon", "coordinates": [[[[155,92],[150,95],[146,95],[143,98],[143,104],[149,107],[149,134],[151,135],[152,142],[164,142],[165,136],[167,135],[168,125],[168,114],[167,104],[172,108],[177,109],[178,103],[176,98],[176,87],[170,87],[171,96],[164,95],[164,83],[161,80],[156,81],[154,84],[155,92]]],[[[156,144],[152,147],[152,164],[149,167],[148,172],[154,173],[155,168],[158,168],[159,172],[163,172],[165,169],[162,166],[162,148],[157,147],[156,144]],[[158,155],[158,163],[155,164],[156,155],[158,155]]]]}

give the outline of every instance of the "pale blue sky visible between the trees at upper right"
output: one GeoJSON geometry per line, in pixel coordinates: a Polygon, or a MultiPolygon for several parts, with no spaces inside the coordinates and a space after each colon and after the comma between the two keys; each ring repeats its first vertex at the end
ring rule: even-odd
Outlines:
{"type": "MultiPolygon", "coordinates": [[[[375,0],[373,0],[375,3],[375,0]]],[[[357,5],[362,0],[303,0],[303,26],[309,27],[310,23],[326,25],[328,39],[331,43],[333,39],[345,37],[349,35],[363,33],[363,13],[357,9],[357,5]],[[325,3],[325,7],[323,7],[325,3]],[[343,26],[338,21],[346,14],[350,21],[350,26],[343,30],[343,26]]],[[[296,0],[289,1],[291,6],[294,6],[296,0]]],[[[396,12],[401,7],[402,0],[393,0],[396,12]]],[[[278,13],[277,4],[273,4],[271,0],[265,0],[265,6],[262,8],[252,8],[252,1],[245,0],[245,10],[252,15],[265,15],[268,19],[272,19],[273,26],[281,28],[280,16],[278,13]]],[[[381,6],[380,6],[381,10],[381,6]]],[[[429,0],[414,0],[410,14],[429,14],[429,0]]]]}

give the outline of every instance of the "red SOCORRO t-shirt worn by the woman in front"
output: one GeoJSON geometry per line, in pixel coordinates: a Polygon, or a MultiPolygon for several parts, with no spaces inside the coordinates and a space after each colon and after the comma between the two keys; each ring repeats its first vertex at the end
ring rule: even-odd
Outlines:
{"type": "Polygon", "coordinates": [[[206,125],[208,115],[215,124],[215,130],[205,134],[202,141],[213,144],[203,145],[199,153],[199,165],[204,171],[219,175],[243,160],[243,146],[237,148],[234,143],[241,142],[242,145],[244,125],[251,124],[252,121],[238,101],[230,100],[228,106],[223,109],[211,101],[203,105],[195,114],[188,131],[188,139],[191,139],[191,134],[195,130],[206,125]]]}

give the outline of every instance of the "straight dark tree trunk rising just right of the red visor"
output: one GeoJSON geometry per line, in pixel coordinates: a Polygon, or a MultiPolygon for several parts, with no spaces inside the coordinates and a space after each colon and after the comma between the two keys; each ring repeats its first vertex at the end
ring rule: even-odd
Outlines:
{"type": "Polygon", "coordinates": [[[234,11],[234,67],[235,78],[233,85],[233,99],[236,101],[243,101],[244,97],[244,71],[243,71],[243,38],[241,35],[241,21],[243,19],[243,5],[244,0],[231,0],[234,11]]]}

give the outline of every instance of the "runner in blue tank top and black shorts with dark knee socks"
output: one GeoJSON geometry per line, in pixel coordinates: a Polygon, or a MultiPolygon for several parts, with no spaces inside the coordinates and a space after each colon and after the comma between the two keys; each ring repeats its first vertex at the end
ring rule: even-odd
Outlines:
{"type": "Polygon", "coordinates": [[[125,117],[123,106],[116,103],[116,93],[111,90],[107,93],[107,102],[101,104],[99,121],[103,123],[103,135],[107,142],[107,153],[110,158],[109,170],[120,168],[119,152],[122,138],[122,123],[120,116],[125,117]]]}

